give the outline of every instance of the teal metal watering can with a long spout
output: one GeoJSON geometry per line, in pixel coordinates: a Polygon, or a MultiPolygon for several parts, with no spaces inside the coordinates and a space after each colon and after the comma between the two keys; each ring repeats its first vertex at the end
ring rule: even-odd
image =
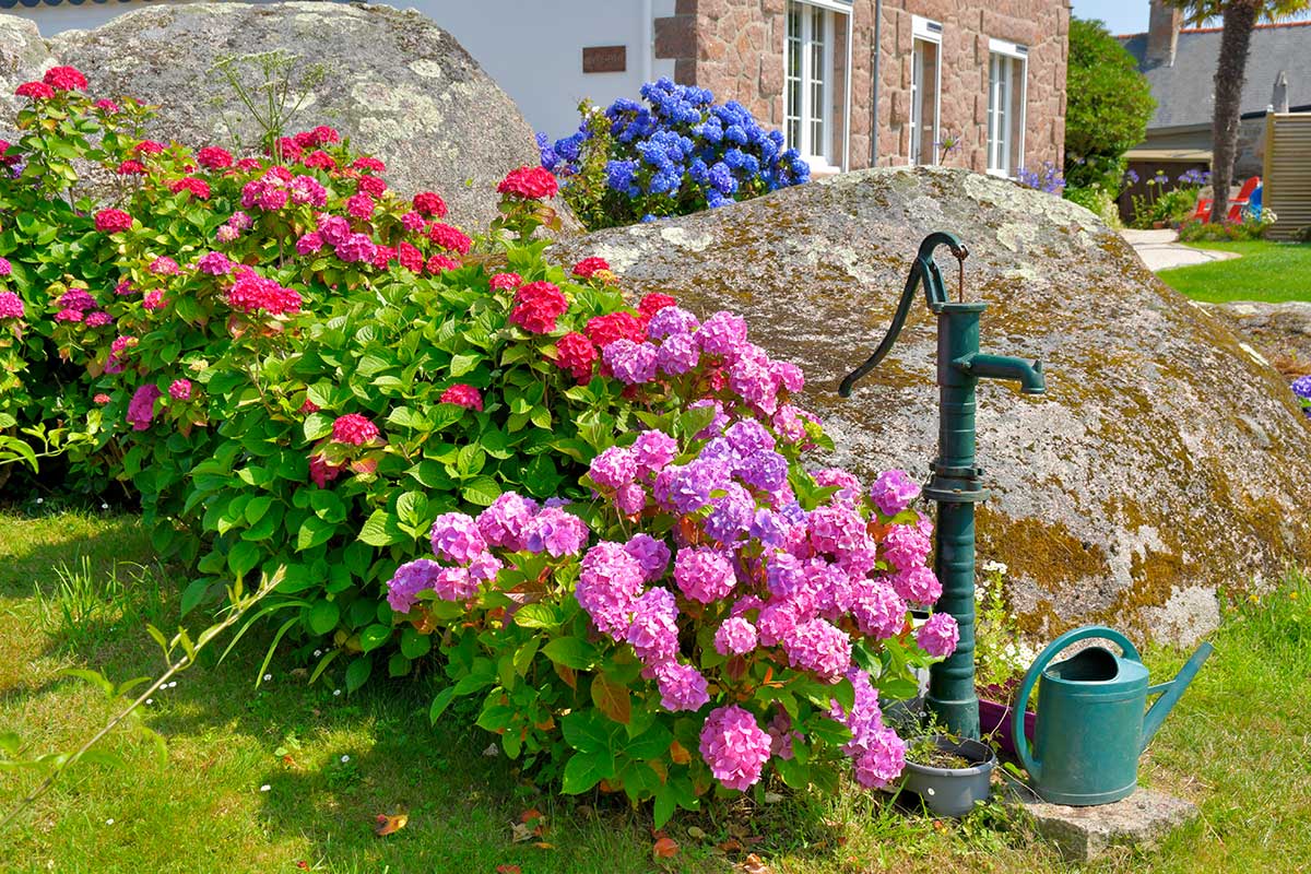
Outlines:
{"type": "Polygon", "coordinates": [[[1054,805],[1126,798],[1138,786],[1138,757],[1210,654],[1211,645],[1202,643],[1179,676],[1148,685],[1138,650],[1114,629],[1086,625],[1051,641],[1025,675],[1012,715],[1015,748],[1030,788],[1054,805]],[[1124,655],[1089,646],[1050,664],[1071,643],[1088,638],[1112,641],[1124,655]],[[1036,683],[1038,718],[1030,752],[1024,710],[1036,683]],[[1160,698],[1147,710],[1151,694],[1160,698]]]}

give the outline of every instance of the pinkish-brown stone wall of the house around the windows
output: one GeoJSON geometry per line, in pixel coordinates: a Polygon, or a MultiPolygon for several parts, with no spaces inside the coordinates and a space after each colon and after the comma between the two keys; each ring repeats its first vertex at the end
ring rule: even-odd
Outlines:
{"type": "MultiPolygon", "coordinates": [[[[675,14],[656,21],[656,55],[675,59],[678,81],[709,88],[720,100],[737,100],[762,122],[781,127],[784,9],[785,0],[676,0],[675,14]]],[[[1068,0],[885,0],[877,164],[909,162],[911,22],[916,14],[943,25],[939,131],[961,138],[961,148],[945,162],[979,172],[987,168],[991,37],[1029,48],[1024,164],[1059,165],[1068,0]]],[[[852,16],[847,169],[859,169],[871,162],[874,0],[855,0],[852,16]]]]}

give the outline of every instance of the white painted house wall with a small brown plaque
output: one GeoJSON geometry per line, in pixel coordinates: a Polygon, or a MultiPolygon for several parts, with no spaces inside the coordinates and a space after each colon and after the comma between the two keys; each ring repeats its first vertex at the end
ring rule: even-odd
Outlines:
{"type": "Polygon", "coordinates": [[[674,75],[653,58],[654,18],[674,0],[391,0],[450,31],[551,139],[578,128],[578,101],[637,98],[644,81],[674,75]],[[627,46],[628,69],[583,73],[583,46],[627,46]]]}

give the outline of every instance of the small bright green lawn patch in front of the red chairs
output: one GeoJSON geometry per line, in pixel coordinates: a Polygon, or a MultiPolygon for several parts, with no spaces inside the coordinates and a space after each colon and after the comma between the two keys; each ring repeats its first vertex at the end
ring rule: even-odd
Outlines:
{"type": "Polygon", "coordinates": [[[1165,284],[1194,300],[1213,304],[1228,300],[1311,300],[1311,242],[1252,240],[1188,245],[1243,256],[1156,274],[1165,284]]]}

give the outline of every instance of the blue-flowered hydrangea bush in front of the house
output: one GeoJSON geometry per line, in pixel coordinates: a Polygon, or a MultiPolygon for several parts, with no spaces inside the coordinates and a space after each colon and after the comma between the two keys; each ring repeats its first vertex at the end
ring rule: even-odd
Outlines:
{"type": "Polygon", "coordinates": [[[800,185],[810,166],[780,131],[766,131],[741,104],[669,79],[604,111],[583,104],[582,124],[551,143],[541,165],[564,180],[565,200],[589,229],[687,215],[800,185]]]}

